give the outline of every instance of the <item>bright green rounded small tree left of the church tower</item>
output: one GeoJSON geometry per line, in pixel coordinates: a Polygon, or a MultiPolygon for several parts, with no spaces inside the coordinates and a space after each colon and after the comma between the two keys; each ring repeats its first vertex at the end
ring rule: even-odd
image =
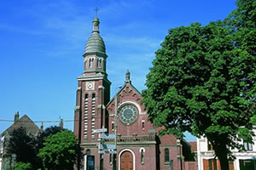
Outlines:
{"type": "Polygon", "coordinates": [[[38,156],[43,159],[45,169],[70,170],[81,152],[79,141],[68,130],[62,130],[46,137],[44,148],[38,156]]]}

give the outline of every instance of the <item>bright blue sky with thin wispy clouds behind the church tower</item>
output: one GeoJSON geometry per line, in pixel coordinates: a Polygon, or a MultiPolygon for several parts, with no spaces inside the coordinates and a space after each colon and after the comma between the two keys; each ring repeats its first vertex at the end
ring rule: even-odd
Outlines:
{"type": "MultiPolygon", "coordinates": [[[[168,29],[223,20],[236,0],[9,0],[0,3],[0,119],[15,111],[33,121],[73,120],[76,78],[94,8],[106,44],[108,79],[142,91],[168,29]]],[[[0,122],[2,133],[12,122],[0,122]]],[[[40,126],[40,123],[37,123],[40,126]]],[[[58,123],[44,123],[44,127],[58,123]]],[[[73,130],[73,122],[64,126],[73,130]]],[[[188,138],[193,140],[193,138],[188,138]]]]}

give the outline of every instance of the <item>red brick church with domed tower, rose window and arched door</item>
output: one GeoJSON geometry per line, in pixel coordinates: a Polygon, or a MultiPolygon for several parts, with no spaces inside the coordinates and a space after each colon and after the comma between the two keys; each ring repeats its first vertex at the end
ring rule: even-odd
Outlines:
{"type": "Polygon", "coordinates": [[[96,17],[83,55],[84,72],[78,77],[74,133],[84,152],[80,169],[183,170],[182,144],[173,135],[159,137],[160,128],[147,121],[142,94],[131,84],[129,71],[123,87],[110,99],[108,55],[99,24],[96,17]],[[107,128],[105,136],[117,135],[103,141],[96,130],[102,128],[107,128]]]}

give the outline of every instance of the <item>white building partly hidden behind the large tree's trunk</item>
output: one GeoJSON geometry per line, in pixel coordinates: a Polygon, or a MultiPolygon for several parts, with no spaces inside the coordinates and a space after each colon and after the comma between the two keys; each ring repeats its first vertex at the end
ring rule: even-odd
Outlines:
{"type": "MultiPolygon", "coordinates": [[[[256,127],[253,127],[253,133],[256,134],[256,127]]],[[[198,170],[220,170],[220,163],[214,160],[214,150],[206,138],[201,137],[197,140],[197,158],[198,170]]],[[[256,170],[256,137],[253,137],[253,143],[243,141],[246,151],[239,152],[232,150],[235,161],[230,161],[230,170],[256,170]]]]}

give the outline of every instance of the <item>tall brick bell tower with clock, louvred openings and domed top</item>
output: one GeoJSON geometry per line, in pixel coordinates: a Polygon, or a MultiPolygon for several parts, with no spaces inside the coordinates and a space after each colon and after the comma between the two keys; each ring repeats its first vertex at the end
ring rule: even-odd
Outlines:
{"type": "Polygon", "coordinates": [[[84,71],[78,77],[74,133],[81,144],[97,142],[94,129],[108,127],[106,105],[110,99],[110,85],[106,72],[105,43],[100,36],[100,20],[92,21],[92,33],[84,50],[84,71]]]}

